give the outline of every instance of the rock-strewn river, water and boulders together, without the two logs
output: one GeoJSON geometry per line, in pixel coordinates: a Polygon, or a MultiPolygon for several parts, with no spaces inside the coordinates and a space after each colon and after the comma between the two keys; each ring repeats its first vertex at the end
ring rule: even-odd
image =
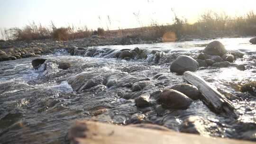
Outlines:
{"type": "Polygon", "coordinates": [[[256,45],[250,39],[1,43],[0,142],[69,143],[77,119],[256,141],[256,45]],[[238,117],[205,105],[200,90],[184,81],[185,71],[225,95],[238,117]]]}

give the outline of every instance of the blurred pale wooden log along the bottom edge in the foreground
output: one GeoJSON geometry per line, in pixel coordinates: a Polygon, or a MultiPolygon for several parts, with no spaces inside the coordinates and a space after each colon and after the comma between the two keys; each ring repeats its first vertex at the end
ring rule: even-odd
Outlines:
{"type": "Polygon", "coordinates": [[[78,121],[69,131],[71,144],[255,144],[172,131],[78,121]]]}

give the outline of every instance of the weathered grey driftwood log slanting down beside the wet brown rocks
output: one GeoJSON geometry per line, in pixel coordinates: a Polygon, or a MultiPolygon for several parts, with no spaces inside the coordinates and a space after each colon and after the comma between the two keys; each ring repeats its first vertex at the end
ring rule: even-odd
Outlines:
{"type": "Polygon", "coordinates": [[[210,84],[204,81],[200,76],[187,71],[184,72],[183,78],[201,91],[202,100],[213,112],[226,117],[238,118],[238,114],[229,99],[210,86],[210,84]]]}

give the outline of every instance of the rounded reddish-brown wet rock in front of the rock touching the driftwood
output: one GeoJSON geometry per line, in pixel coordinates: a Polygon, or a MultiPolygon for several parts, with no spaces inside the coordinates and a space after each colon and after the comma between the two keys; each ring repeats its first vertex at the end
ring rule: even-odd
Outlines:
{"type": "Polygon", "coordinates": [[[183,109],[190,106],[192,99],[177,90],[164,89],[160,95],[160,102],[165,108],[183,109]]]}

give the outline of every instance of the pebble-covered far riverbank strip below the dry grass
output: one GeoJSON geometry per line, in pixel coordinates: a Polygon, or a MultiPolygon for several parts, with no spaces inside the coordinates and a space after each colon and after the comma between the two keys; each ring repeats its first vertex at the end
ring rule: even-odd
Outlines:
{"type": "MultiPolygon", "coordinates": [[[[224,35],[216,33],[215,36],[224,35]]],[[[211,40],[212,37],[200,36],[183,36],[180,41],[193,41],[193,40],[211,40]]],[[[164,38],[160,37],[156,40],[142,40],[137,37],[115,37],[115,36],[98,36],[93,35],[89,38],[75,39],[69,41],[54,41],[51,39],[26,41],[3,41],[0,42],[0,61],[15,60],[26,57],[40,57],[43,54],[53,54],[58,49],[68,50],[72,47],[91,47],[91,46],[104,46],[104,45],[135,45],[135,44],[155,44],[163,43],[164,38]]]]}

